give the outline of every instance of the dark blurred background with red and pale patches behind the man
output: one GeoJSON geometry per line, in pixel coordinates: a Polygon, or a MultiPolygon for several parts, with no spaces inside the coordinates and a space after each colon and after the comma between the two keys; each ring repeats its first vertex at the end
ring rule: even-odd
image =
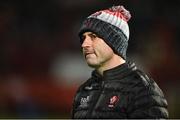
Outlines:
{"type": "Polygon", "coordinates": [[[0,118],[70,118],[77,87],[90,76],[77,33],[97,10],[131,12],[128,59],[151,75],[180,118],[178,0],[1,0],[0,118]]]}

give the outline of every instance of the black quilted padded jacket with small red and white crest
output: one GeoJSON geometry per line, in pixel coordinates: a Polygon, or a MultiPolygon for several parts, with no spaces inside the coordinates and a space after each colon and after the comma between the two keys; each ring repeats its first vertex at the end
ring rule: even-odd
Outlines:
{"type": "Polygon", "coordinates": [[[163,92],[134,64],[96,71],[77,91],[72,118],[168,118],[163,92]]]}

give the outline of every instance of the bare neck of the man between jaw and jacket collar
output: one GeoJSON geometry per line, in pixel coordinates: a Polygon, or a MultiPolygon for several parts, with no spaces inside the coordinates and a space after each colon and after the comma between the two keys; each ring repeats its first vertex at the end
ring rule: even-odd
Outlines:
{"type": "Polygon", "coordinates": [[[114,54],[113,57],[108,60],[107,62],[103,63],[99,68],[97,68],[97,71],[103,75],[103,72],[109,69],[112,69],[114,67],[117,67],[126,61],[122,59],[120,56],[114,54]]]}

